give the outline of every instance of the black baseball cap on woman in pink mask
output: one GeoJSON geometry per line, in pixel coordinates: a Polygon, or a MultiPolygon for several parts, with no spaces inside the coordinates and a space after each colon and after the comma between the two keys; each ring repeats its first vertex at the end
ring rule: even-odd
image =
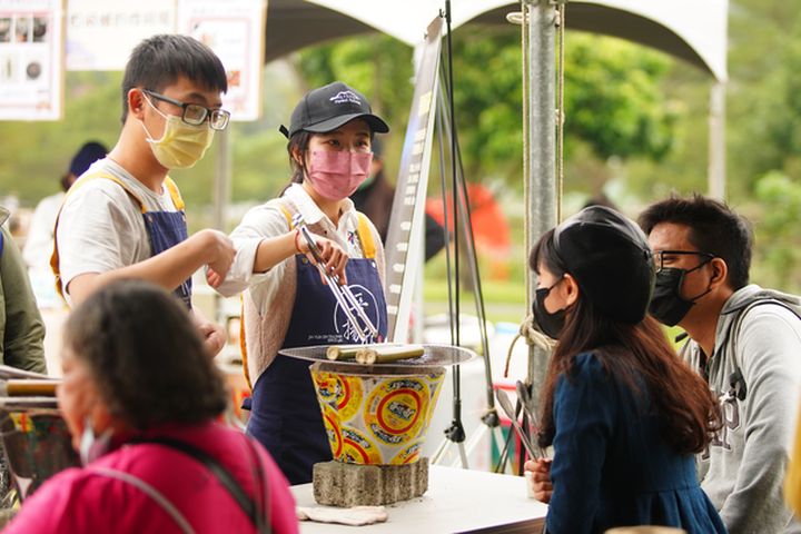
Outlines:
{"type": "Polygon", "coordinates": [[[286,137],[298,131],[325,134],[354,119],[363,119],[374,132],[389,131],[384,119],[373,115],[364,95],[342,81],[335,81],[307,92],[293,111],[289,129],[281,125],[279,130],[286,137]]]}

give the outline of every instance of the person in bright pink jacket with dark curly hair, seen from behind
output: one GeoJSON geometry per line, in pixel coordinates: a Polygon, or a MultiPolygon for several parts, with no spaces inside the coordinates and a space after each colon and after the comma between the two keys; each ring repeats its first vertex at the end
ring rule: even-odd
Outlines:
{"type": "Polygon", "coordinates": [[[228,395],[178,299],[112,283],[69,317],[58,400],[82,468],[26,500],[6,533],[298,532],[286,478],[219,423],[228,395]]]}

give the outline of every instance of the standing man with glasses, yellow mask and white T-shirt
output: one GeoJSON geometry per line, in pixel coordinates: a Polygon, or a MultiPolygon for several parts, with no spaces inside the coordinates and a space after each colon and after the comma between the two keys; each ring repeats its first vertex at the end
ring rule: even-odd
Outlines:
{"type": "MultiPolygon", "coordinates": [[[[108,156],[70,188],[56,222],[51,266],[72,305],[119,278],[176,293],[191,308],[191,275],[208,265],[227,273],[235,249],[217,230],[188,236],[184,201],[170,169],[192,167],[228,126],[228,89],[219,58],[177,34],[139,43],[122,80],[122,131],[108,156]]],[[[195,309],[209,354],[225,333],[195,309]]]]}

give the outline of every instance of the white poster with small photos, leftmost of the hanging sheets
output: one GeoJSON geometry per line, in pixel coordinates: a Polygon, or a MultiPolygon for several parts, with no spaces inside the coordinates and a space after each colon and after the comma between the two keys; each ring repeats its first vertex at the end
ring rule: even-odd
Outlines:
{"type": "Polygon", "coordinates": [[[65,0],[0,0],[0,120],[58,120],[65,0]]]}

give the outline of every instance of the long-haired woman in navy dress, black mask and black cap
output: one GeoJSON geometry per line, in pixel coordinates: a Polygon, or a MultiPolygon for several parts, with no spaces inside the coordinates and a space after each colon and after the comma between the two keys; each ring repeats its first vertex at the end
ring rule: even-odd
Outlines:
{"type": "Polygon", "coordinates": [[[647,240],[616,211],[590,207],[532,249],[534,316],[557,339],[542,389],[540,444],[527,462],[548,533],[624,525],[725,532],[699,486],[693,453],[719,427],[714,400],[645,312],[647,240]]]}

